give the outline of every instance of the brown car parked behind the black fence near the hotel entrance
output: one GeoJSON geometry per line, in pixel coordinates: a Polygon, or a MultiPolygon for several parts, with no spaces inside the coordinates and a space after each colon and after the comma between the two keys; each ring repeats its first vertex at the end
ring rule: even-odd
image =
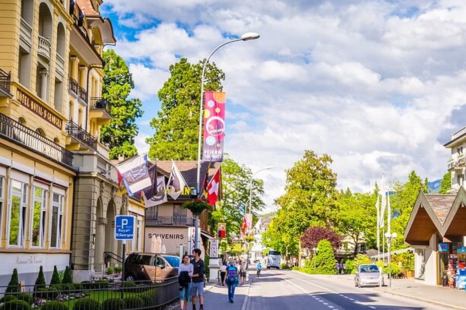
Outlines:
{"type": "Polygon", "coordinates": [[[161,254],[135,252],[128,255],[125,261],[127,281],[161,281],[177,274],[177,268],[161,254]]]}

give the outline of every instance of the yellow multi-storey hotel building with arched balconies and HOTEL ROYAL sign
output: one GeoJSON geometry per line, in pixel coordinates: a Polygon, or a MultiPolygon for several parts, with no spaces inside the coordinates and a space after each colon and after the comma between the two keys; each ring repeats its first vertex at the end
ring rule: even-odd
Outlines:
{"type": "Polygon", "coordinates": [[[54,265],[90,279],[104,251],[121,253],[118,214],[137,216],[130,250],[143,248],[144,208],[118,193],[99,142],[101,53],[115,44],[101,3],[0,0],[0,283],[17,268],[33,284],[40,265],[47,280],[54,265]]]}

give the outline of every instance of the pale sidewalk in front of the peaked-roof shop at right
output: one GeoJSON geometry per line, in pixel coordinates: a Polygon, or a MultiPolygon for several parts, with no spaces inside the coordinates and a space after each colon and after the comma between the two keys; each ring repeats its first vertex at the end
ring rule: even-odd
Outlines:
{"type": "Polygon", "coordinates": [[[426,285],[415,282],[413,278],[392,279],[392,288],[390,289],[389,281],[389,279],[385,279],[385,284],[387,286],[376,287],[376,290],[422,300],[450,309],[466,310],[466,291],[464,289],[426,285]]]}

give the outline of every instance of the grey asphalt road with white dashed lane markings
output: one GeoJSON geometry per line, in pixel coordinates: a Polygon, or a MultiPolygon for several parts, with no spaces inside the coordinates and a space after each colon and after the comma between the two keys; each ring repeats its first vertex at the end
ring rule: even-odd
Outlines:
{"type": "Polygon", "coordinates": [[[250,284],[237,288],[234,304],[228,303],[226,287],[219,285],[208,288],[205,300],[206,310],[451,309],[450,306],[437,305],[409,296],[392,295],[380,288],[355,287],[350,275],[308,275],[289,270],[263,270],[259,279],[256,279],[255,275],[251,276],[250,284]]]}

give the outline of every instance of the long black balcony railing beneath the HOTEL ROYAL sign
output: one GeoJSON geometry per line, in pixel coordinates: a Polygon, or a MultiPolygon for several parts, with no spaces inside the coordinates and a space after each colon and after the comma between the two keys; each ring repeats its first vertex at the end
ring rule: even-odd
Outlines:
{"type": "Polygon", "coordinates": [[[14,140],[34,151],[39,151],[45,156],[69,167],[73,165],[72,152],[1,113],[0,135],[14,140]]]}

